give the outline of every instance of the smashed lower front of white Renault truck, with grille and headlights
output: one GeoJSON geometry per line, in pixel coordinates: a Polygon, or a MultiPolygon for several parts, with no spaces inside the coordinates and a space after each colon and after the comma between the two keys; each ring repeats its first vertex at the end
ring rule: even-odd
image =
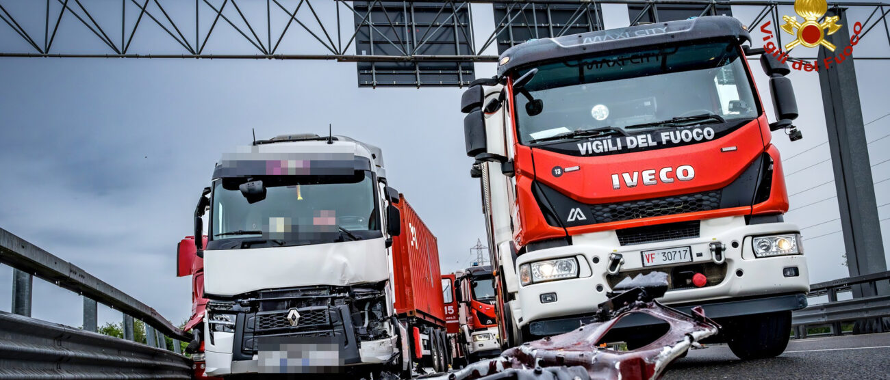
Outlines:
{"type": "MultiPolygon", "coordinates": [[[[326,366],[388,362],[395,352],[396,336],[385,302],[384,284],[263,290],[231,301],[211,301],[205,333],[207,374],[301,371],[264,368],[263,362],[269,360],[263,360],[263,353],[274,356],[274,352],[284,352],[276,347],[313,342],[336,345],[339,364],[326,366]]],[[[297,356],[291,352],[279,356],[300,355],[293,353],[297,356]]]]}

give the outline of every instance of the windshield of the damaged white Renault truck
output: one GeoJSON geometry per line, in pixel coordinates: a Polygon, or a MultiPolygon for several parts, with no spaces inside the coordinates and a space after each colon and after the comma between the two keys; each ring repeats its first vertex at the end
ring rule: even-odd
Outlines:
{"type": "Polygon", "coordinates": [[[352,241],[383,236],[374,180],[353,176],[261,176],[266,196],[249,203],[239,190],[247,178],[214,183],[213,231],[208,249],[262,248],[352,241]]]}

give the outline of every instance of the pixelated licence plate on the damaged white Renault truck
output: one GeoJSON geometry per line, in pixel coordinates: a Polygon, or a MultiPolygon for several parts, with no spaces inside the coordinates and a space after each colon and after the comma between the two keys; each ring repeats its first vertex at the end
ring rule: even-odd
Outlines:
{"type": "Polygon", "coordinates": [[[344,366],[344,348],[334,337],[261,336],[259,372],[263,374],[329,374],[344,366]]]}

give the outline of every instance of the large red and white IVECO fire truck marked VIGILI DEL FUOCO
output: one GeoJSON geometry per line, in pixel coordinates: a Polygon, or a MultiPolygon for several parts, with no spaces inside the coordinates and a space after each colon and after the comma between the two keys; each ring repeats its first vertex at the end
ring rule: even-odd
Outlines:
{"type": "MultiPolygon", "coordinates": [[[[532,40],[465,92],[503,344],[576,329],[619,281],[658,271],[660,301],[702,305],[741,358],[784,351],[809,281],[771,141],[799,138],[797,106],[788,66],[763,54],[767,121],[749,40],[724,16],[532,40]]],[[[636,346],[658,326],[618,327],[636,346]]]]}

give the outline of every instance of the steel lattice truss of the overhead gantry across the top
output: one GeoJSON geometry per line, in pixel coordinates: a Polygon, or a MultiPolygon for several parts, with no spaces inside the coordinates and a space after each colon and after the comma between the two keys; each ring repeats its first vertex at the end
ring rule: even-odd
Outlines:
{"type": "MultiPolygon", "coordinates": [[[[472,62],[498,59],[490,49],[493,45],[503,51],[523,39],[603,28],[603,4],[627,4],[632,24],[659,22],[659,6],[700,10],[699,15],[718,14],[730,6],[737,10],[754,8],[756,17],[748,25],[755,28],[772,20],[773,30],[781,24],[780,14],[793,12],[794,4],[765,0],[195,0],[193,4],[182,0],[121,0],[119,6],[108,5],[115,3],[0,0],[0,20],[8,27],[5,32],[11,32],[0,31],[0,36],[7,37],[5,41],[0,39],[0,57],[373,62],[368,72],[371,85],[376,84],[376,63],[404,63],[407,68],[392,69],[392,73],[401,70],[419,77],[417,71],[422,64],[452,62],[457,65],[452,64],[450,70],[461,78],[456,83],[442,84],[463,85],[467,79],[464,74],[472,77],[472,62]],[[477,39],[473,30],[483,29],[479,28],[483,24],[487,26],[484,29],[490,29],[492,20],[473,20],[471,4],[494,5],[494,29],[484,40],[477,39]],[[412,14],[416,8],[425,9],[433,17],[416,20],[412,14]],[[559,18],[562,21],[551,17],[554,11],[563,12],[559,18]],[[442,40],[442,36],[449,39],[442,40]],[[430,49],[437,44],[454,47],[450,51],[430,49]],[[360,45],[369,49],[359,49],[360,45]]],[[[890,46],[886,20],[890,4],[829,3],[829,7],[868,12],[861,37],[880,26],[890,46]]],[[[776,37],[781,43],[781,34],[776,37]]],[[[890,57],[858,54],[856,59],[890,57]]],[[[414,83],[419,85],[421,81],[416,79],[414,83]]]]}

